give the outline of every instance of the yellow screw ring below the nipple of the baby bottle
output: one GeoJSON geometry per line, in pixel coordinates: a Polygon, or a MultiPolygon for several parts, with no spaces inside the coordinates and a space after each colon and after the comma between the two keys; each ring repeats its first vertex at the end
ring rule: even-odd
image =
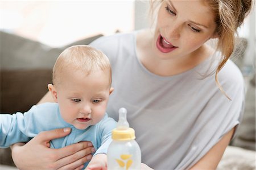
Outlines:
{"type": "Polygon", "coordinates": [[[135,131],[133,128],[117,129],[112,131],[113,140],[133,140],[135,139],[135,131]]]}

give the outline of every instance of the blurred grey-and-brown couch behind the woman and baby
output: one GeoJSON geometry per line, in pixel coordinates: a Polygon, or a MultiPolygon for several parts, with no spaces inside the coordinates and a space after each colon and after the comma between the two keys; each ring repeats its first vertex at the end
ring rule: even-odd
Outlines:
{"type": "MultiPolygon", "coordinates": [[[[61,48],[51,48],[13,34],[0,32],[1,93],[0,112],[27,111],[47,92],[52,67],[63,49],[75,44],[89,44],[102,35],[92,36],[61,48]]],[[[246,40],[238,47],[246,45],[246,40]]],[[[236,59],[242,69],[243,58],[236,59]]],[[[255,74],[247,75],[247,94],[243,122],[236,138],[226,150],[218,169],[255,169],[255,74]]],[[[1,164],[15,166],[9,149],[0,149],[1,164]]]]}

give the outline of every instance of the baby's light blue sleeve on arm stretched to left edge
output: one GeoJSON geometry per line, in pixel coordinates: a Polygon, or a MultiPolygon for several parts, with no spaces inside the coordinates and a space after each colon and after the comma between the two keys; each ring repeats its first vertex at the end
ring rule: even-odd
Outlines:
{"type": "Polygon", "coordinates": [[[0,147],[28,142],[41,131],[57,128],[57,108],[56,103],[43,103],[32,106],[24,114],[0,114],[0,147]]]}

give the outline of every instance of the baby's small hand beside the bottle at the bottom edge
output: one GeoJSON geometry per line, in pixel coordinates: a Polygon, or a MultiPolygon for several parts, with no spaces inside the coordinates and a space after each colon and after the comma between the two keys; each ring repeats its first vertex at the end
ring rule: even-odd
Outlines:
{"type": "Polygon", "coordinates": [[[106,154],[97,154],[93,156],[85,170],[107,170],[106,154]]]}

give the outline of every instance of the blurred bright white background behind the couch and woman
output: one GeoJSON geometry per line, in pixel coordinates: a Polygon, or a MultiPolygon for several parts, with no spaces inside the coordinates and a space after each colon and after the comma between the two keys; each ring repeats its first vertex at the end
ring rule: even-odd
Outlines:
{"type": "MultiPolygon", "coordinates": [[[[60,47],[88,36],[150,26],[148,1],[1,1],[1,30],[60,47]]],[[[255,63],[255,6],[238,33],[248,41],[247,69],[255,63]]]]}

